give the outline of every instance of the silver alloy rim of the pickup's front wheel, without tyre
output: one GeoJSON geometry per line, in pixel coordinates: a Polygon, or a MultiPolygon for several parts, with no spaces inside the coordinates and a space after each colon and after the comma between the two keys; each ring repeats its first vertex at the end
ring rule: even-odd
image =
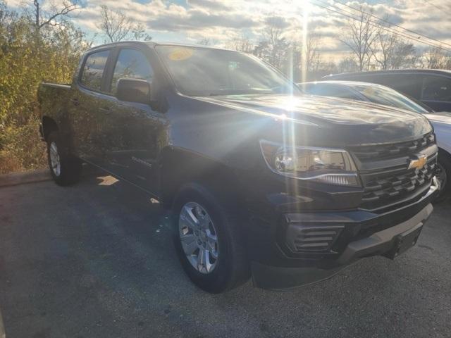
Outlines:
{"type": "Polygon", "coordinates": [[[218,232],[205,208],[185,204],[178,218],[180,242],[187,260],[199,273],[211,273],[218,263],[218,232]]]}

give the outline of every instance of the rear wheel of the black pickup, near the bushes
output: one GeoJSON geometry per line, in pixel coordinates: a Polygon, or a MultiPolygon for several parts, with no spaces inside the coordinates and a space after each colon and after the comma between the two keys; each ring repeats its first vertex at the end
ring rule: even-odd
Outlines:
{"type": "Polygon", "coordinates": [[[82,163],[69,153],[58,132],[51,132],[47,137],[47,158],[56,184],[69,185],[80,180],[82,163]]]}

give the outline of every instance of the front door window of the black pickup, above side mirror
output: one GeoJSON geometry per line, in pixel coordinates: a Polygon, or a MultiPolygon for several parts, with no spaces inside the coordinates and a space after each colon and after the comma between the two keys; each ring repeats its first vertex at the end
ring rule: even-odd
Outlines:
{"type": "Polygon", "coordinates": [[[118,61],[114,67],[113,79],[111,80],[110,92],[116,94],[118,80],[122,77],[132,77],[152,82],[154,71],[142,51],[137,49],[121,49],[118,61]]]}

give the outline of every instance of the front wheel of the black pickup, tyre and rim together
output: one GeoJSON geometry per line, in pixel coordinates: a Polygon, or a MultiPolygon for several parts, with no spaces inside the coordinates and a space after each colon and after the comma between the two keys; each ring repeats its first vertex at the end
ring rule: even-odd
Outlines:
{"type": "Polygon", "coordinates": [[[233,209],[196,183],[187,184],[175,198],[175,248],[187,275],[206,292],[224,292],[249,279],[245,232],[233,209]]]}

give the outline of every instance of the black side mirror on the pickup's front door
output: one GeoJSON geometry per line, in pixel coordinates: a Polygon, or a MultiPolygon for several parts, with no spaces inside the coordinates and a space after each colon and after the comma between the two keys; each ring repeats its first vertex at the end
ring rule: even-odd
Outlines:
{"type": "Polygon", "coordinates": [[[116,97],[121,101],[150,104],[150,84],[146,80],[123,77],[118,80],[116,97]]]}

